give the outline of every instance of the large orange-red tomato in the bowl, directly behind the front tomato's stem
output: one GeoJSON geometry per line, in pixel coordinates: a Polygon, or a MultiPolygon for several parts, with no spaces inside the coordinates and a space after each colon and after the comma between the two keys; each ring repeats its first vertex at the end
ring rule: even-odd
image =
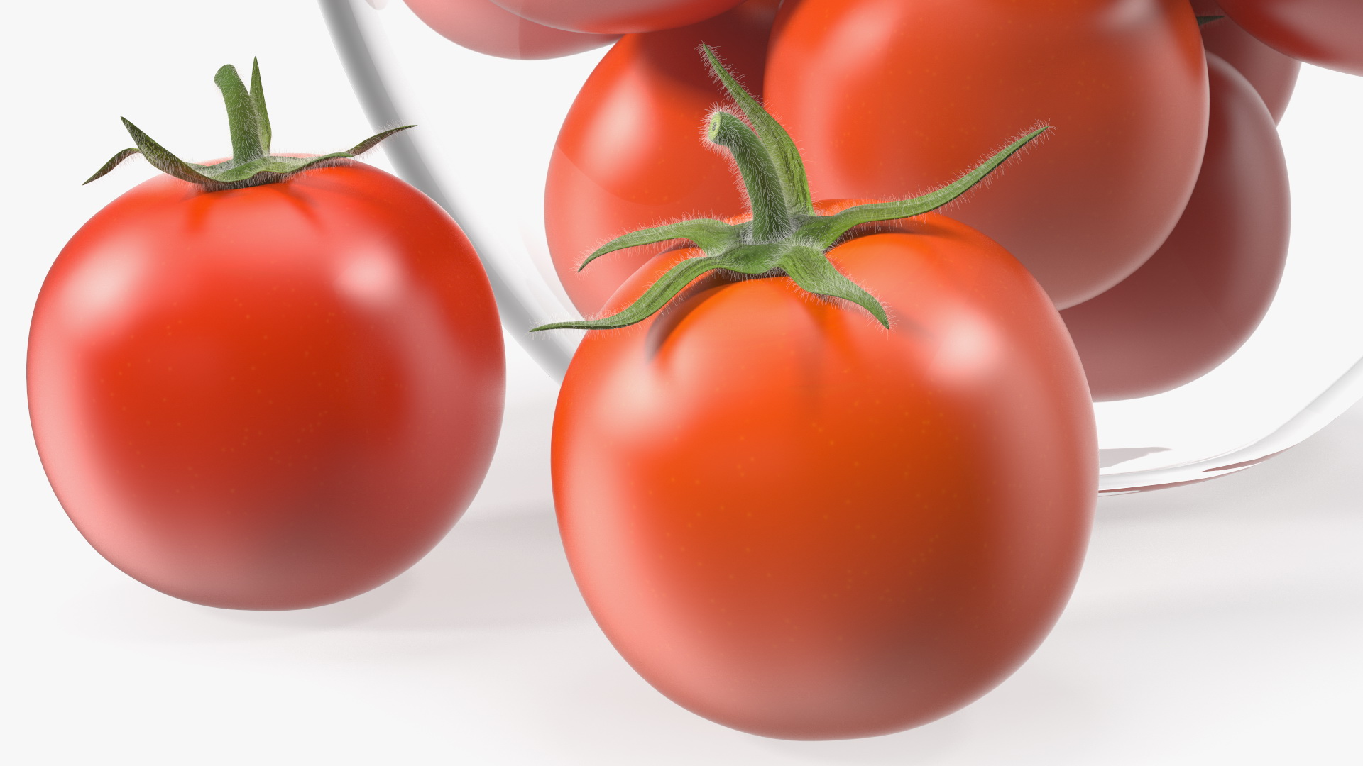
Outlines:
{"type": "Polygon", "coordinates": [[[923,194],[1054,125],[950,215],[1006,247],[1060,308],[1160,247],[1206,139],[1187,0],[792,0],[766,97],[816,198],[923,194]]]}

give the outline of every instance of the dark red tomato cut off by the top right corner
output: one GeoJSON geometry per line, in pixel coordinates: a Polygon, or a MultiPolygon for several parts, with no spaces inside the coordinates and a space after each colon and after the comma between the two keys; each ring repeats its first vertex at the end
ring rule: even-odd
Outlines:
{"type": "Polygon", "coordinates": [[[1219,0],[1254,37],[1319,67],[1363,75],[1363,3],[1358,0],[1219,0]]]}

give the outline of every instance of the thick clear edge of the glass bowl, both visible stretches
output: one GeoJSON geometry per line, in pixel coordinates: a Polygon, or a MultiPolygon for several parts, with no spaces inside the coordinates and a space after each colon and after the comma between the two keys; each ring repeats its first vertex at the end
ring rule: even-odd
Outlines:
{"type": "MultiPolygon", "coordinates": [[[[386,37],[372,16],[373,4],[367,0],[319,0],[337,52],[341,56],[352,87],[373,129],[406,124],[403,112],[388,87],[391,68],[386,63],[386,37]]],[[[384,143],[384,151],[398,174],[444,207],[473,241],[487,269],[496,294],[497,308],[507,331],[529,352],[555,380],[562,380],[572,352],[581,339],[578,333],[530,334],[526,330],[551,319],[577,315],[548,286],[534,279],[515,278],[504,264],[514,263],[495,249],[496,237],[480,228],[476,217],[463,214],[458,187],[442,185],[425,161],[420,136],[399,134],[384,143]]],[[[1264,462],[1306,440],[1363,398],[1363,360],[1356,361],[1334,383],[1311,399],[1302,410],[1270,433],[1235,450],[1209,458],[1175,465],[1135,470],[1104,469],[1099,474],[1099,492],[1118,495],[1195,484],[1238,473],[1264,462]]]]}

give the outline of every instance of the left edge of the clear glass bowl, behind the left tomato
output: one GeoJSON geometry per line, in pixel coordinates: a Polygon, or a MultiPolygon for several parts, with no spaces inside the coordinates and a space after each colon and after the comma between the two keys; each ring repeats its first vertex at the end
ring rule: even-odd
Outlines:
{"type": "MultiPolygon", "coordinates": [[[[375,5],[364,0],[318,0],[322,5],[322,15],[326,19],[331,41],[341,55],[346,76],[354,89],[364,108],[365,117],[378,131],[394,125],[405,125],[403,110],[393,95],[388,76],[390,68],[384,65],[384,37],[383,30],[373,23],[372,10],[375,5]],[[358,11],[358,12],[357,12],[358,11]]],[[[382,144],[393,166],[413,187],[421,189],[436,204],[443,207],[463,229],[465,236],[473,243],[473,248],[483,260],[483,267],[492,285],[492,293],[497,301],[497,311],[502,315],[502,326],[517,342],[538,363],[541,368],[555,380],[563,380],[572,360],[572,352],[581,341],[577,333],[529,333],[530,327],[537,327],[548,322],[562,320],[564,316],[577,316],[571,305],[564,305],[549,289],[534,281],[517,279],[515,274],[508,274],[504,263],[506,258],[499,258],[497,239],[481,228],[477,217],[465,214],[469,209],[461,199],[459,189],[444,187],[439,183],[431,166],[425,161],[421,150],[421,139],[412,131],[403,131],[391,136],[382,144]]]]}

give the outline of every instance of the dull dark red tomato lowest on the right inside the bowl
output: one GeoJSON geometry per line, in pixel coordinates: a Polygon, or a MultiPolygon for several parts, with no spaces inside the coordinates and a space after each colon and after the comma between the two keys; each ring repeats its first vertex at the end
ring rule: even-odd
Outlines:
{"type": "Polygon", "coordinates": [[[1234,67],[1208,56],[1212,123],[1193,199],[1164,247],[1060,316],[1096,401],[1168,391],[1225,361],[1277,292],[1291,204],[1273,117],[1234,67]]]}

